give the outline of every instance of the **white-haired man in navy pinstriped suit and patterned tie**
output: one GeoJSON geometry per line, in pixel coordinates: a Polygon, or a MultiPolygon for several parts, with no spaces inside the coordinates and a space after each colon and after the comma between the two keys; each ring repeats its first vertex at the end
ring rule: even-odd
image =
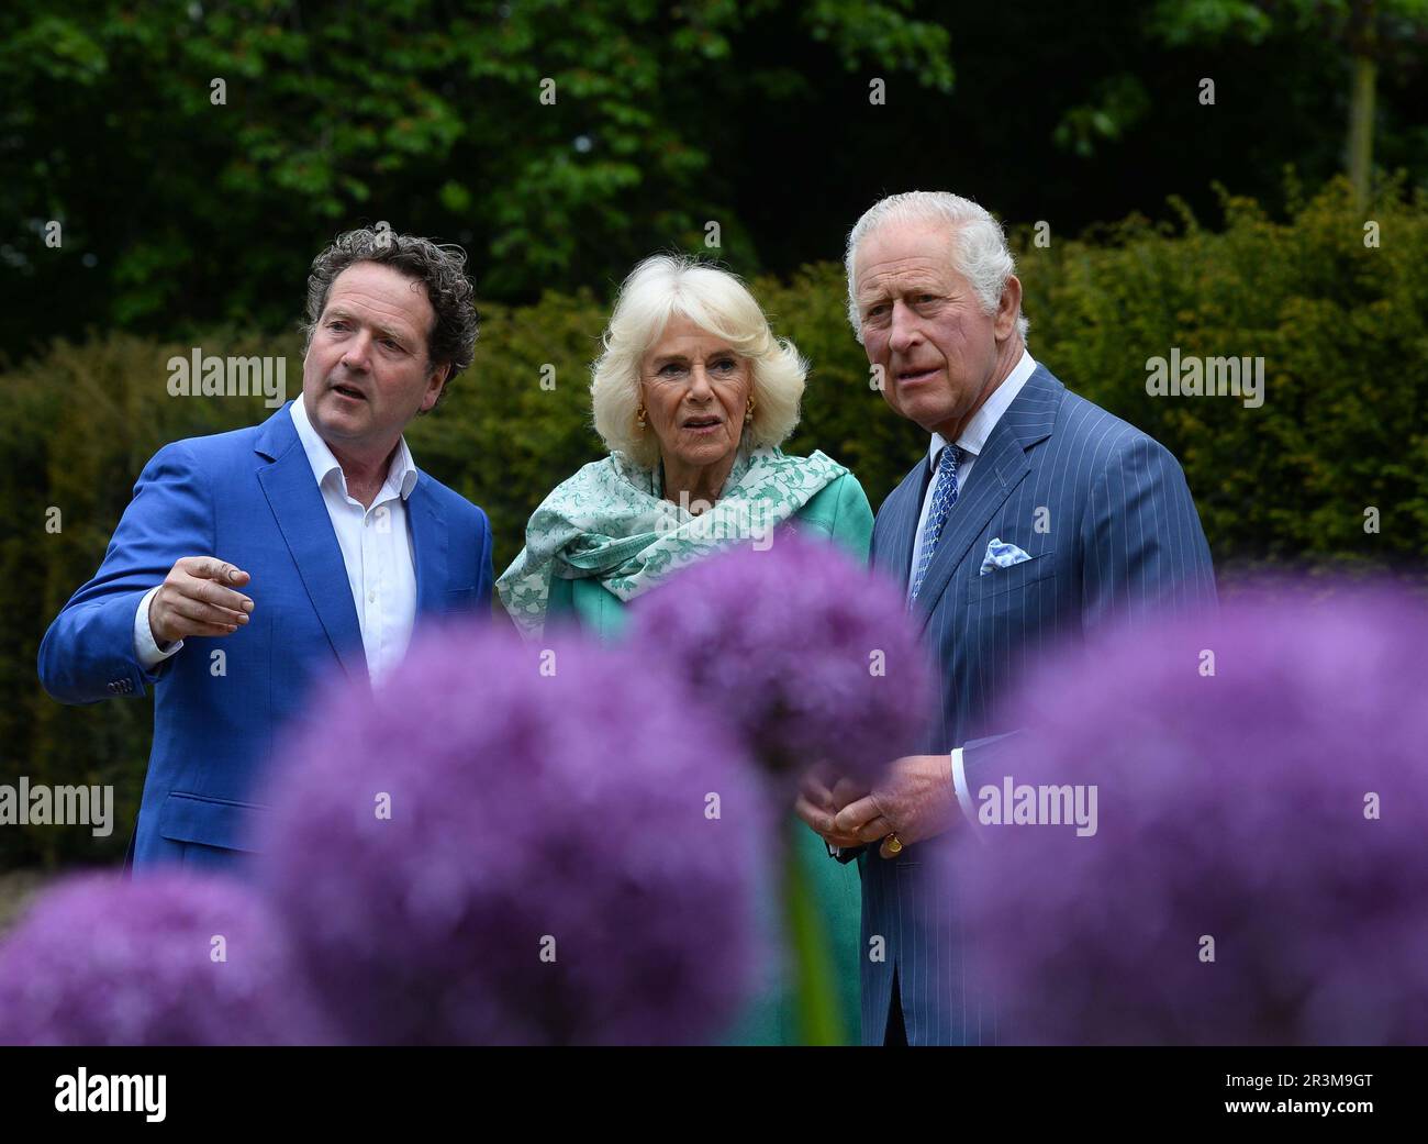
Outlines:
{"type": "Polygon", "coordinates": [[[1001,783],[1017,728],[992,726],[998,704],[1040,654],[1100,624],[1215,600],[1180,464],[1032,360],[1012,270],[998,223],[954,194],[891,196],[848,236],[853,327],[887,403],[931,436],[878,511],[871,560],[941,673],[917,754],[871,793],[805,780],[798,806],[863,871],[867,1044],[997,1043],[992,998],[967,974],[977,934],[928,851],[1001,783]]]}

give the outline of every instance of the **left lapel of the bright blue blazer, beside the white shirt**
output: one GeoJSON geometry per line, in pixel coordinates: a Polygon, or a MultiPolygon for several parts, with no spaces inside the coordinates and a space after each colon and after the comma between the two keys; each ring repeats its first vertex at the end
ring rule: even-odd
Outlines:
{"type": "Polygon", "coordinates": [[[293,554],[317,618],[323,623],[333,654],[350,678],[367,683],[367,656],[363,651],[357,608],[347,586],[347,567],[287,406],[268,418],[256,450],[271,460],[271,464],[258,470],[258,484],[293,554]]]}

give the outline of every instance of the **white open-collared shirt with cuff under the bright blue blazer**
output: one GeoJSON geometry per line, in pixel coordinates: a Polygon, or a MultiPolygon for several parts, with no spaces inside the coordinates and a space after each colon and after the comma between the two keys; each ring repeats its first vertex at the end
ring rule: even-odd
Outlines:
{"type": "MultiPolygon", "coordinates": [[[[371,507],[366,508],[347,494],[343,467],[308,420],[301,396],[293,401],[290,411],[337,534],[347,586],[357,607],[367,674],[376,684],[406,654],[417,616],[417,566],[406,506],[417,484],[417,466],[403,437],[387,468],[386,483],[371,507]]],[[[134,616],[134,651],[146,670],[183,647],[183,640],[166,647],[154,641],[149,627],[149,603],[156,591],[157,587],[144,593],[134,616]]]]}

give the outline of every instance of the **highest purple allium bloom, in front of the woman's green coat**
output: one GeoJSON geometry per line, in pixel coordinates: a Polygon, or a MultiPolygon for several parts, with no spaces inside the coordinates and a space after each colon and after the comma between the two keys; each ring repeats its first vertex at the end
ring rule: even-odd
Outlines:
{"type": "Polygon", "coordinates": [[[925,653],[898,590],[835,546],[780,530],[673,577],[633,608],[631,638],[670,657],[775,773],[825,763],[871,784],[915,746],[925,653]]]}

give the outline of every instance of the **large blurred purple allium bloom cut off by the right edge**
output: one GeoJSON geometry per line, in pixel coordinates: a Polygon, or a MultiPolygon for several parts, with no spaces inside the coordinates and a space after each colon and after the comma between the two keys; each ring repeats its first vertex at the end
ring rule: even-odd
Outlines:
{"type": "Polygon", "coordinates": [[[1424,647],[1421,600],[1252,593],[1028,680],[978,816],[1011,776],[1095,786],[1097,821],[951,847],[1000,1038],[1428,1041],[1424,647]]]}

